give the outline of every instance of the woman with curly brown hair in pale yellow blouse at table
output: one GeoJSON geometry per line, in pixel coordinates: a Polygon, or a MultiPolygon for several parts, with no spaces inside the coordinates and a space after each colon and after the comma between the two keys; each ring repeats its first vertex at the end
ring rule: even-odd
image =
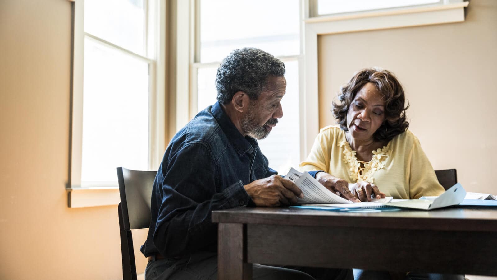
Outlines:
{"type": "MultiPolygon", "coordinates": [[[[340,104],[333,102],[332,108],[338,126],[320,131],[302,169],[314,171],[310,173],[332,191],[361,201],[385,196],[417,199],[444,192],[419,140],[408,130],[409,106],[393,73],[360,70],[341,88],[338,99],[340,104]]],[[[390,279],[387,272],[354,270],[354,276],[390,279]]],[[[409,278],[464,279],[434,274],[409,278]]]]}

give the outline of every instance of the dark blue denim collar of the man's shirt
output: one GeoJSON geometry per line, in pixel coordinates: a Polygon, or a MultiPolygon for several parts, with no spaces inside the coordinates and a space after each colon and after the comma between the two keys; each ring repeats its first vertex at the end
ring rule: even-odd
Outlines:
{"type": "Polygon", "coordinates": [[[243,156],[246,152],[252,153],[257,147],[257,140],[252,137],[244,137],[235,127],[230,117],[224,112],[223,107],[219,102],[216,102],[211,107],[211,114],[216,119],[221,130],[228,137],[228,140],[233,145],[239,156],[243,156]]]}

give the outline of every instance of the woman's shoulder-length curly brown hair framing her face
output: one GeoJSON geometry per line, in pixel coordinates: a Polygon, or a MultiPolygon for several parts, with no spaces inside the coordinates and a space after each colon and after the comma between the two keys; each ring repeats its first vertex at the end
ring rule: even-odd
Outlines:
{"type": "Polygon", "coordinates": [[[350,104],[359,90],[367,83],[376,85],[376,89],[383,94],[385,100],[385,121],[374,133],[376,141],[390,141],[397,135],[405,132],[409,127],[406,120],[406,97],[404,89],[395,75],[379,68],[364,68],[357,72],[350,81],[341,87],[338,93],[340,104],[333,101],[331,112],[343,131],[347,129],[347,112],[350,104]]]}

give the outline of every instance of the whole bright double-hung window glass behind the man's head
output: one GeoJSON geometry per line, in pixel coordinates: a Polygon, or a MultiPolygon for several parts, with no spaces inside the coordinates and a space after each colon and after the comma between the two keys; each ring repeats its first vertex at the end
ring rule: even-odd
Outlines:
{"type": "Polygon", "coordinates": [[[283,118],[259,145],[269,166],[280,174],[300,163],[300,40],[299,0],[200,0],[196,18],[197,45],[193,79],[197,112],[216,102],[215,76],[221,60],[232,50],[256,47],[285,63],[287,88],[283,118]],[[261,8],[264,7],[264,8],[261,8]],[[243,10],[244,12],[239,12],[243,10]],[[214,16],[216,15],[216,16],[214,16]],[[195,87],[194,87],[195,88],[195,87]]]}

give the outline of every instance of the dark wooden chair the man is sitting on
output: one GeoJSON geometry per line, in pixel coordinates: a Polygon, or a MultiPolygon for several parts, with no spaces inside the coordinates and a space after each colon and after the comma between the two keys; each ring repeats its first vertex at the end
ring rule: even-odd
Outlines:
{"type": "Polygon", "coordinates": [[[123,280],[136,280],[135,252],[131,230],[148,228],[151,214],[152,186],[157,171],[136,171],[117,167],[119,195],[119,231],[123,280]]]}

